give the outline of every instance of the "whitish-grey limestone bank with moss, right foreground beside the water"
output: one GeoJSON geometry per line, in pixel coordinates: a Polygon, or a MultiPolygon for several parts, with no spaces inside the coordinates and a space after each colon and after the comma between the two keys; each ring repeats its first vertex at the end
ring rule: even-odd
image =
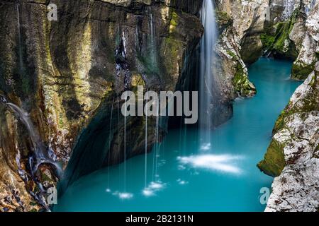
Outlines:
{"type": "Polygon", "coordinates": [[[264,172],[276,176],[266,211],[317,211],[319,63],[291,97],[274,133],[265,159],[259,163],[264,172]]]}

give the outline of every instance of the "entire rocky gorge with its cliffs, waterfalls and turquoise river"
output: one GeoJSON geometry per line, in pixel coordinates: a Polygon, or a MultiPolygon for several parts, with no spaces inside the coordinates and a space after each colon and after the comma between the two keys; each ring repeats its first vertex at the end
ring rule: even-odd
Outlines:
{"type": "Polygon", "coordinates": [[[0,211],[318,210],[318,1],[0,11],[0,211]],[[139,86],[198,91],[198,124],[123,116],[121,94],[139,86]]]}

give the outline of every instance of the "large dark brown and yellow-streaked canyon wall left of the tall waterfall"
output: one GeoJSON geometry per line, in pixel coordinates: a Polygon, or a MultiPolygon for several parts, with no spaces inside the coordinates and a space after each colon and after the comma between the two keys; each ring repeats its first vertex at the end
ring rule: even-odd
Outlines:
{"type": "MultiPolygon", "coordinates": [[[[0,94],[27,112],[62,165],[74,149],[71,181],[144,153],[145,120],[124,125],[119,97],[137,85],[175,90],[203,33],[200,8],[201,1],[1,1],[0,94]],[[57,21],[47,20],[50,3],[57,21]]],[[[0,208],[39,210],[46,204],[38,182],[47,189],[57,178],[50,165],[31,177],[35,147],[26,125],[6,105],[0,110],[0,208]]],[[[150,150],[155,119],[148,120],[150,150]]],[[[163,123],[160,135],[165,131],[163,123]]]]}

